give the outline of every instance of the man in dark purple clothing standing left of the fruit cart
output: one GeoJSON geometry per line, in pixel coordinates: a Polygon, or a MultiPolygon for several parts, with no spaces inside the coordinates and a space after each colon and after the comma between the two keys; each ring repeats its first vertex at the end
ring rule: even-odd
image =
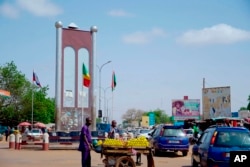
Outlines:
{"type": "Polygon", "coordinates": [[[80,143],[78,147],[78,151],[82,153],[82,167],[91,167],[91,154],[90,151],[92,149],[92,139],[91,132],[89,130],[89,126],[91,125],[92,120],[88,117],[86,118],[86,123],[82,127],[80,134],[80,143]]]}

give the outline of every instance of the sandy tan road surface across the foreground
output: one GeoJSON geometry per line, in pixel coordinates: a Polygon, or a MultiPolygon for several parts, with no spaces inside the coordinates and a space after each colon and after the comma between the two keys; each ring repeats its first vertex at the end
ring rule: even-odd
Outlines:
{"type": "MultiPolygon", "coordinates": [[[[76,150],[49,150],[8,148],[8,143],[0,141],[1,167],[80,167],[81,154],[76,150]]],[[[92,167],[103,167],[100,154],[92,151],[92,167]]],[[[156,167],[190,167],[190,154],[182,157],[181,154],[168,153],[154,157],[156,167]]],[[[143,164],[147,167],[146,156],[142,156],[143,164]]]]}

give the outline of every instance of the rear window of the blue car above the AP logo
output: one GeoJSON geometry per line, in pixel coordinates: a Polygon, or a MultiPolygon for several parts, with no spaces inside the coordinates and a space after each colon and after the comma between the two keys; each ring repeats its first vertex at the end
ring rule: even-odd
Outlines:
{"type": "Polygon", "coordinates": [[[218,147],[250,147],[250,133],[218,132],[214,145],[218,147]]]}

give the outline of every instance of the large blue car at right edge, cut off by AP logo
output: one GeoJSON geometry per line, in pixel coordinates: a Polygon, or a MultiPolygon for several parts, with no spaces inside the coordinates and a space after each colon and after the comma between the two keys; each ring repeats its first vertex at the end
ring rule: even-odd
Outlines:
{"type": "Polygon", "coordinates": [[[208,127],[192,148],[193,167],[229,166],[230,151],[250,151],[250,132],[244,127],[208,127]]]}

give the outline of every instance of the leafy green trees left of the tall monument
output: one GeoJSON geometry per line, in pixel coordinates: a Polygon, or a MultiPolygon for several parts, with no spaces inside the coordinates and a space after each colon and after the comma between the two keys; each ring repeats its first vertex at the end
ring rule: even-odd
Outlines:
{"type": "Polygon", "coordinates": [[[48,87],[38,88],[17,70],[12,61],[0,67],[0,89],[10,91],[10,98],[0,97],[0,121],[9,126],[33,120],[54,122],[55,100],[47,98],[48,87]],[[33,102],[33,103],[32,103],[33,102]]]}

